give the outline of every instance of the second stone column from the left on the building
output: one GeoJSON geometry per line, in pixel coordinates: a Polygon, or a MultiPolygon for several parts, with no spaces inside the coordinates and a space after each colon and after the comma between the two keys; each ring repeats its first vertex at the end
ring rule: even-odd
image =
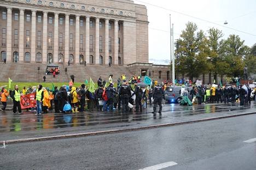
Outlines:
{"type": "Polygon", "coordinates": [[[24,61],[24,9],[20,9],[19,57],[24,61]]]}

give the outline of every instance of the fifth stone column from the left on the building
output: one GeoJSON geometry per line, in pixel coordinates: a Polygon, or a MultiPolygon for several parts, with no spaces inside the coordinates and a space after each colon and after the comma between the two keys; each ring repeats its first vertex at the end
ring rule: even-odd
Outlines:
{"type": "Polygon", "coordinates": [[[58,63],[59,56],[59,13],[54,14],[54,55],[53,62],[58,63]]]}

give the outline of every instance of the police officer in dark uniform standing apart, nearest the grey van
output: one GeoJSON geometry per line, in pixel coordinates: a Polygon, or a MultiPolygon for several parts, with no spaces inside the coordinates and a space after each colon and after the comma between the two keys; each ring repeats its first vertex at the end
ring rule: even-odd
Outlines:
{"type": "Polygon", "coordinates": [[[165,96],[165,92],[164,90],[162,89],[161,86],[156,86],[153,90],[153,99],[154,99],[154,107],[153,107],[153,114],[154,116],[156,115],[155,112],[156,112],[156,105],[159,105],[159,115],[161,116],[162,115],[162,98],[164,98],[165,96]]]}

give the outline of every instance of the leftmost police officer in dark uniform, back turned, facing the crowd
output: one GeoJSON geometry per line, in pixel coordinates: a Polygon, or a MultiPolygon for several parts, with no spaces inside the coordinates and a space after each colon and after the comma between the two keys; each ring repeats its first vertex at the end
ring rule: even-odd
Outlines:
{"type": "Polygon", "coordinates": [[[131,88],[127,86],[126,80],[123,81],[123,85],[119,89],[118,97],[121,100],[122,112],[129,112],[129,99],[131,97],[131,88]]]}

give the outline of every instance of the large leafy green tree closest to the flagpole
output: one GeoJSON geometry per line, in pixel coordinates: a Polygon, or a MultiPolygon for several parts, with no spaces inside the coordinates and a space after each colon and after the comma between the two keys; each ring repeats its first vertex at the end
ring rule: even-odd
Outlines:
{"type": "Polygon", "coordinates": [[[190,80],[205,74],[211,68],[207,62],[207,38],[202,30],[197,32],[195,23],[188,22],[176,43],[176,71],[187,74],[190,80]]]}

